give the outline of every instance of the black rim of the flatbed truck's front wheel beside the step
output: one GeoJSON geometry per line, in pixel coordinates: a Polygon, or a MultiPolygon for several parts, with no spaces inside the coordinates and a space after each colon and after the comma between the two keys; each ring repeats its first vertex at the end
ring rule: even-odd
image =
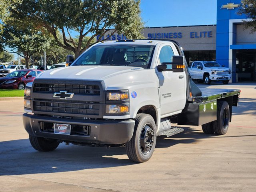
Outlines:
{"type": "Polygon", "coordinates": [[[146,155],[152,149],[154,143],[154,131],[148,125],[145,125],[140,134],[140,150],[146,155]]]}

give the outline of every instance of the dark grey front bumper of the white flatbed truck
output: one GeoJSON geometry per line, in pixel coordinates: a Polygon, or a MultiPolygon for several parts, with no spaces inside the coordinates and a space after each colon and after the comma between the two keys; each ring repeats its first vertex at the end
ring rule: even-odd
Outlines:
{"type": "Polygon", "coordinates": [[[60,119],[48,116],[23,114],[24,128],[28,134],[61,140],[65,142],[84,143],[84,144],[124,144],[128,142],[133,135],[134,120],[74,120],[60,119]],[[44,132],[40,128],[40,123],[59,123],[76,124],[90,126],[88,135],[64,135],[54,134],[53,132],[44,132]]]}

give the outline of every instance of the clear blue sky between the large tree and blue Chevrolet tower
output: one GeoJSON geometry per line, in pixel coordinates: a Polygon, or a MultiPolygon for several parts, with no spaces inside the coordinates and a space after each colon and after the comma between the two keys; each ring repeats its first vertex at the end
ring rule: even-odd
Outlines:
{"type": "Polygon", "coordinates": [[[217,0],[141,0],[146,27],[216,24],[217,0]]]}

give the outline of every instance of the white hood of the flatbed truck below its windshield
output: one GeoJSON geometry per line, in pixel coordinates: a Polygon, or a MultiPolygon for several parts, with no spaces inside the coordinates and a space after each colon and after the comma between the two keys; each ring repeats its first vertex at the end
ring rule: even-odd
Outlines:
{"type": "Polygon", "coordinates": [[[108,78],[133,72],[134,70],[144,70],[140,67],[128,66],[70,66],[47,70],[39,74],[36,78],[43,79],[73,79],[73,80],[106,80],[108,78]]]}

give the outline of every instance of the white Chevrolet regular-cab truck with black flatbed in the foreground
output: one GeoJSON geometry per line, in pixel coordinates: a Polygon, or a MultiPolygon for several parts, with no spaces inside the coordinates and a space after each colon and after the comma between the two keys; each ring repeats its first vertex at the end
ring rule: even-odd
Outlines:
{"type": "Polygon", "coordinates": [[[120,40],[39,74],[24,95],[23,123],[36,150],[125,146],[130,160],[145,162],[157,137],[183,131],[171,124],[226,134],[240,90],[199,90],[175,41],[120,40]]]}

